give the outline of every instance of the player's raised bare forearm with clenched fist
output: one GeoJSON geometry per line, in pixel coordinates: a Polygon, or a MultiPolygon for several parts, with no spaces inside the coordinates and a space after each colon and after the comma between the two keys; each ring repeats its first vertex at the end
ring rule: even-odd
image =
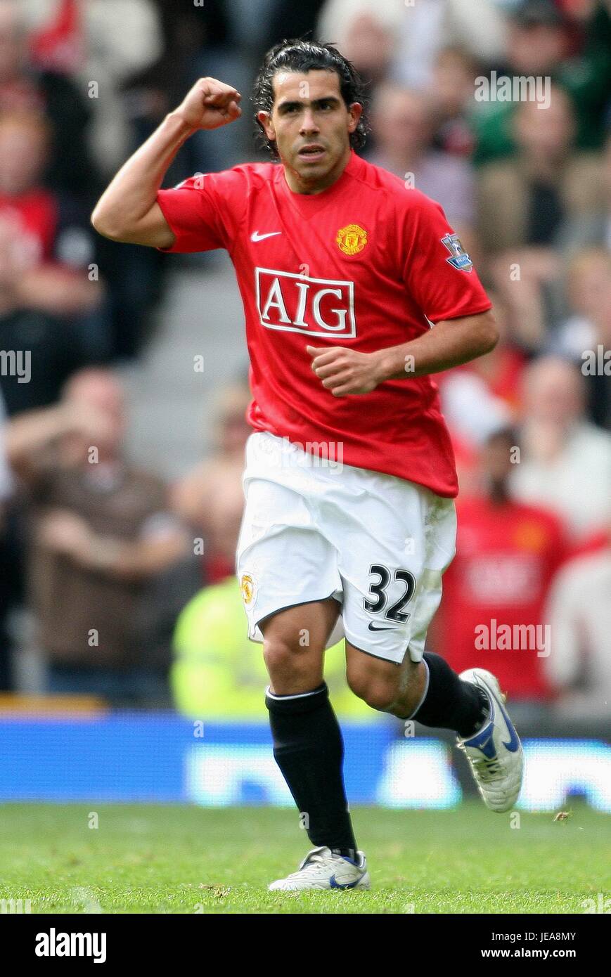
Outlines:
{"type": "Polygon", "coordinates": [[[178,150],[198,129],[218,129],[240,118],[240,92],[215,78],[199,78],[183,102],[164,118],[140,149],[123,164],[100,197],[91,217],[96,231],[111,240],[171,247],[156,194],[178,150]]]}

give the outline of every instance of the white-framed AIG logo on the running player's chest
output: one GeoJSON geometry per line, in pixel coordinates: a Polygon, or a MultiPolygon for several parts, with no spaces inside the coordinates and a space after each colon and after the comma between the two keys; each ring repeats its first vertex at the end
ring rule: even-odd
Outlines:
{"type": "Polygon", "coordinates": [[[267,329],[309,336],[356,336],[354,281],[255,268],[259,321],[267,329]]]}

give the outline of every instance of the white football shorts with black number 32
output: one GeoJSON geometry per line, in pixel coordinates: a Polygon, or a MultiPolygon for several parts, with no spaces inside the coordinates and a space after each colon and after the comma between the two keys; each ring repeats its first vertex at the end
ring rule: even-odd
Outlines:
{"type": "MultiPolygon", "coordinates": [[[[323,452],[321,452],[323,453],[323,452]]],[[[424,653],[456,551],[453,499],[256,432],[246,443],[237,572],[248,636],[285,608],[334,597],[341,637],[400,663],[424,653]]]]}

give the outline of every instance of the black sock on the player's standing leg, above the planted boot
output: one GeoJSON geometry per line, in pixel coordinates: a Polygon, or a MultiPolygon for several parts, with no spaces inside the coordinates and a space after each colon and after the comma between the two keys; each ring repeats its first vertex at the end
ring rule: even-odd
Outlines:
{"type": "Polygon", "coordinates": [[[327,684],[303,696],[275,696],[269,691],[274,756],[301,815],[308,837],[338,855],[355,858],[342,765],[344,744],[328,701],[327,684]]]}

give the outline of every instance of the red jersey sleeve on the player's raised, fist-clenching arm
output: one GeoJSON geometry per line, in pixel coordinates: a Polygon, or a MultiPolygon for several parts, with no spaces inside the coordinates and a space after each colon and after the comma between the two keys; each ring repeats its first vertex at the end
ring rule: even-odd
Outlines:
{"type": "Polygon", "coordinates": [[[237,170],[223,170],[198,173],[173,190],[157,191],[157,203],[176,238],[171,247],[158,250],[231,250],[245,205],[244,189],[237,170]]]}

